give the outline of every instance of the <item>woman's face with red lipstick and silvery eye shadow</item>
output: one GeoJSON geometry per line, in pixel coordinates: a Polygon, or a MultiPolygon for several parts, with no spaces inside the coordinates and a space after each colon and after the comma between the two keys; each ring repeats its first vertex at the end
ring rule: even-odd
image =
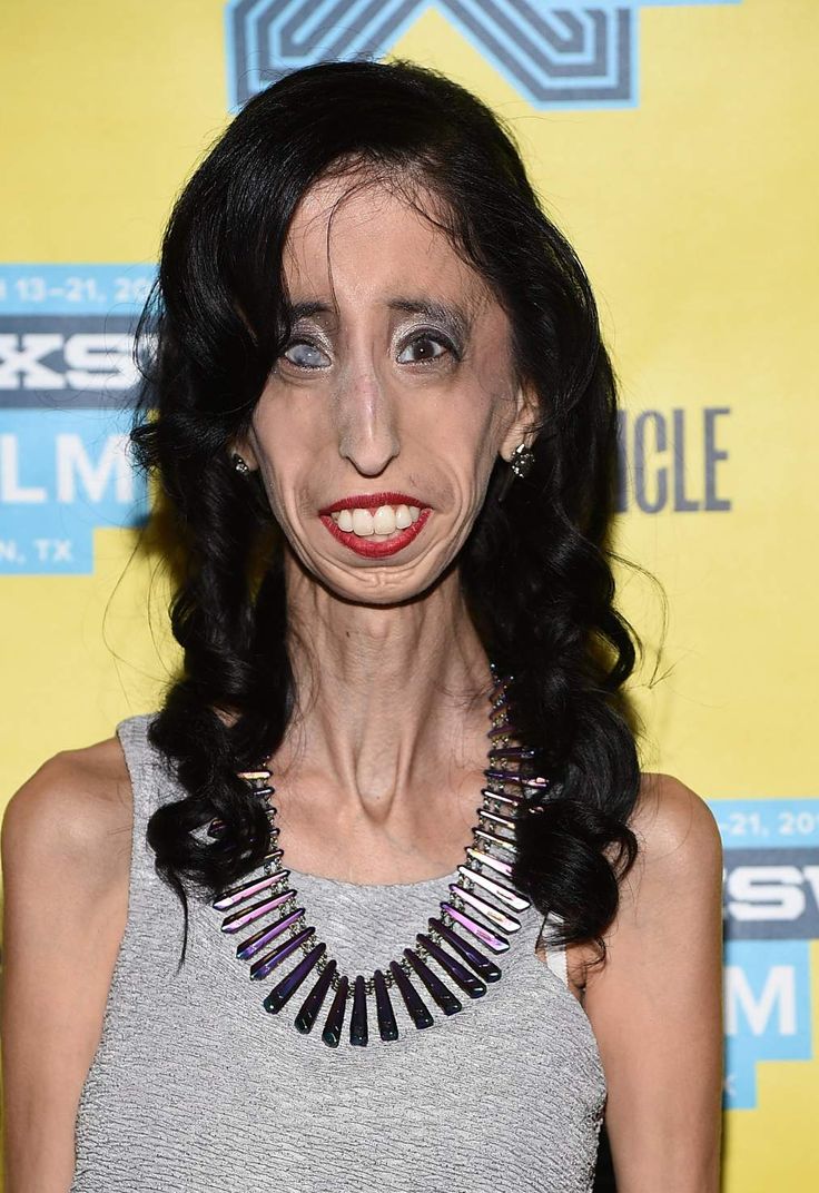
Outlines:
{"type": "Polygon", "coordinates": [[[446,235],[378,184],[317,184],[284,267],[292,339],[237,450],[309,573],[356,602],[407,600],[455,558],[533,414],[508,319],[446,235]]]}

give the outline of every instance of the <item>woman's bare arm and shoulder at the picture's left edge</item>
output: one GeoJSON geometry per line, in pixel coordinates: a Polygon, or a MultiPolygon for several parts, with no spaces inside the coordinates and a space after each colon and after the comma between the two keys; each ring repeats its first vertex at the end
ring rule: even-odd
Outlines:
{"type": "Polygon", "coordinates": [[[82,1083],[125,927],[130,785],[116,740],[63,752],[2,821],[6,1193],[67,1193],[82,1083]]]}

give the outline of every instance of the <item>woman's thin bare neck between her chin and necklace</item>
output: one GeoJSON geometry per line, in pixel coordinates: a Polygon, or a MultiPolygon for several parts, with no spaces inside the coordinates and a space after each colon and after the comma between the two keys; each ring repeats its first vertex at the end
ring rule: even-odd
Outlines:
{"type": "Polygon", "coordinates": [[[385,824],[485,765],[489,661],[454,569],[392,606],[340,600],[294,564],[286,582],[298,710],[280,775],[385,824]]]}

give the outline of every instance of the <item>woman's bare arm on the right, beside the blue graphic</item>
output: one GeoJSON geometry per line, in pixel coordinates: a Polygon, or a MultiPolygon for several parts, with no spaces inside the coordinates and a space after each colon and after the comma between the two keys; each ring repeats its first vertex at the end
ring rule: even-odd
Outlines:
{"type": "Polygon", "coordinates": [[[707,804],[646,775],[641,847],[585,1010],[609,1089],[618,1193],[716,1193],[722,1090],[722,851],[707,804]]]}

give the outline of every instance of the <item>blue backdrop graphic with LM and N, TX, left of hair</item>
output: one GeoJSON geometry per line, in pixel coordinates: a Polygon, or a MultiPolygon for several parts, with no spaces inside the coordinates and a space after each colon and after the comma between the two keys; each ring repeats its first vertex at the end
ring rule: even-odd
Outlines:
{"type": "Polygon", "coordinates": [[[126,449],[153,279],[134,265],[0,267],[0,575],[91,574],[94,528],[147,518],[126,449]]]}

